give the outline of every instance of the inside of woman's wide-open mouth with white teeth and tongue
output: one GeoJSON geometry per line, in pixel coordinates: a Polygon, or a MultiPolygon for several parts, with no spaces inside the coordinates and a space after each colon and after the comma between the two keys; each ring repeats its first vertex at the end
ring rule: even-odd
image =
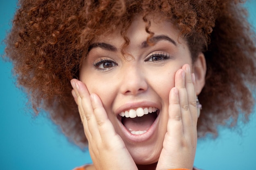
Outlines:
{"type": "Polygon", "coordinates": [[[150,126],[155,122],[159,114],[159,109],[155,107],[139,107],[119,113],[121,123],[130,133],[141,135],[146,133],[150,126]]]}

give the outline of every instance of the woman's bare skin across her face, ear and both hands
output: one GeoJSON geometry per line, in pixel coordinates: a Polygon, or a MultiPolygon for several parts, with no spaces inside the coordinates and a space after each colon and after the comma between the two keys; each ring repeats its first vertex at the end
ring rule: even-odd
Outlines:
{"type": "Polygon", "coordinates": [[[145,44],[148,34],[138,17],[128,29],[130,45],[125,56],[121,54],[124,39],[119,31],[101,35],[92,44],[114,48],[94,45],[83,60],[80,80],[71,81],[89,142],[92,169],[193,168],[196,95],[204,86],[204,55],[200,53],[192,65],[188,45],[178,38],[179,32],[171,22],[155,19],[159,18],[154,18],[150,26],[155,33],[153,46],[145,44]],[[159,109],[152,135],[142,142],[130,140],[118,114],[150,105],[159,109]]]}

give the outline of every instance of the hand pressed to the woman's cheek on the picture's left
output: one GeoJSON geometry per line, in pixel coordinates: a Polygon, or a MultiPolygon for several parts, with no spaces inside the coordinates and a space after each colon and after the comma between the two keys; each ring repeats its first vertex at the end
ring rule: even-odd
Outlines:
{"type": "Polygon", "coordinates": [[[72,79],[71,84],[95,168],[97,170],[136,170],[137,166],[124,141],[115,132],[99,96],[90,95],[81,81],[72,79]]]}

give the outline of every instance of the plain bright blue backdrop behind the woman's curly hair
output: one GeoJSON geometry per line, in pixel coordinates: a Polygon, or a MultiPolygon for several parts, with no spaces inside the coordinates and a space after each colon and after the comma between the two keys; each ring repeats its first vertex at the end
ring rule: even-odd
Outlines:
{"type": "MultiPolygon", "coordinates": [[[[256,27],[256,1],[245,4],[249,21],[256,27]]],[[[0,41],[11,25],[15,0],[0,2],[0,41]]],[[[0,46],[3,54],[4,44],[0,46]]],[[[67,141],[54,124],[40,115],[31,116],[27,99],[15,86],[11,63],[0,59],[0,169],[71,170],[90,163],[88,151],[81,151],[67,141]]],[[[255,112],[255,111],[254,111],[255,112]]],[[[204,170],[256,170],[256,113],[239,128],[220,127],[217,139],[200,139],[195,166],[204,170]]],[[[124,160],[125,161],[125,160],[124,160]]]]}

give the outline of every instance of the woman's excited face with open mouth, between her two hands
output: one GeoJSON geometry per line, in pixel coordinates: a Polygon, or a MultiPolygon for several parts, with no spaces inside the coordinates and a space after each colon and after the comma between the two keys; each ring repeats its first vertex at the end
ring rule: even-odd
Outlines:
{"type": "Polygon", "coordinates": [[[175,72],[192,62],[186,41],[178,39],[170,22],[151,20],[150,31],[155,33],[153,46],[146,43],[142,18],[134,20],[124,56],[120,31],[97,38],[80,70],[80,80],[101,98],[116,133],[137,164],[158,161],[175,72]]]}

